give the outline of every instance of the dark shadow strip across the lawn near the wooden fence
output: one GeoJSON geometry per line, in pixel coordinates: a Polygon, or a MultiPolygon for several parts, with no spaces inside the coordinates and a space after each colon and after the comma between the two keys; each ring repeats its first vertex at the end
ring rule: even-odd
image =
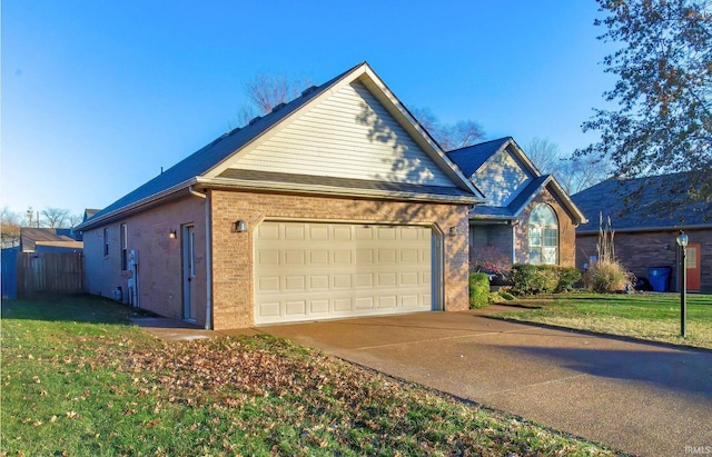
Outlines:
{"type": "Polygon", "coordinates": [[[43,296],[24,300],[2,300],[2,319],[72,321],[90,324],[130,324],[152,312],[131,308],[108,298],[90,295],[43,296]]]}

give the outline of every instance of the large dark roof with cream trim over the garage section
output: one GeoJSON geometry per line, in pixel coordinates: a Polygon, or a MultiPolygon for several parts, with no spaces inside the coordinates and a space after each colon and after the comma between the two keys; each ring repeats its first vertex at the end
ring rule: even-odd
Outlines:
{"type": "MultiPolygon", "coordinates": [[[[329,97],[336,89],[348,85],[355,80],[362,80],[369,91],[384,105],[390,116],[413,137],[418,146],[429,156],[454,183],[454,190],[442,191],[439,187],[423,186],[414,189],[406,186],[400,189],[378,188],[366,186],[356,189],[357,195],[377,196],[384,198],[413,198],[422,200],[443,200],[474,203],[482,201],[482,192],[467,180],[466,177],[454,166],[439,149],[433,138],[415,120],[411,112],[390,92],[387,86],[376,76],[368,63],[359,63],[349,70],[338,74],[319,87],[305,90],[301,97],[288,103],[275,107],[273,112],[264,117],[253,119],[247,126],[236,128],[220,136],[200,150],[188,156],[161,175],[129,192],[125,197],[109,205],[78,226],[85,230],[99,226],[108,220],[120,217],[127,212],[144,209],[150,205],[156,205],[159,200],[185,192],[192,187],[207,188],[268,188],[268,189],[294,189],[299,186],[298,179],[285,179],[284,176],[265,176],[255,179],[251,175],[248,179],[239,179],[228,171],[227,161],[246,150],[249,145],[258,142],[278,126],[286,123],[298,112],[310,109],[310,107],[329,97]],[[279,180],[275,180],[279,179],[279,180]],[[395,191],[395,192],[394,192],[395,191]]],[[[301,187],[303,192],[327,192],[327,193],[353,193],[346,187],[334,186],[325,189],[301,187]]]]}

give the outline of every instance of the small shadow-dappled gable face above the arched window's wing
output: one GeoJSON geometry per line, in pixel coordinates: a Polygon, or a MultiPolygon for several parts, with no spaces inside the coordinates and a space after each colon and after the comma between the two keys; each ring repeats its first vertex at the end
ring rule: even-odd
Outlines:
{"type": "Polygon", "coordinates": [[[473,182],[487,198],[487,206],[506,207],[533,177],[506,148],[492,156],[473,176],[473,182]]]}

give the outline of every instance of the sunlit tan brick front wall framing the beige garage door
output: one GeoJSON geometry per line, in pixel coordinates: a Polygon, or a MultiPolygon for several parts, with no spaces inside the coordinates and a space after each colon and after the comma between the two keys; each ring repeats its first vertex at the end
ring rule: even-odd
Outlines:
{"type": "Polygon", "coordinates": [[[265,219],[339,222],[424,223],[443,235],[445,310],[465,310],[468,232],[464,205],[415,203],[369,199],[259,192],[210,191],[212,226],[212,298],[215,329],[254,325],[254,230],[265,219]],[[248,231],[231,225],[245,220],[248,231]],[[457,227],[456,235],[449,228],[457,227]]]}

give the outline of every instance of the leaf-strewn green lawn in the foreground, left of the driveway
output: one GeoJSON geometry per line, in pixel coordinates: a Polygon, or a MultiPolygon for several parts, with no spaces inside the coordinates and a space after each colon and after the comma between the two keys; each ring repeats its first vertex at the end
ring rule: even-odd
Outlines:
{"type": "Polygon", "coordinates": [[[615,455],[285,340],[166,342],[130,316],[2,304],[0,456],[615,455]]]}

